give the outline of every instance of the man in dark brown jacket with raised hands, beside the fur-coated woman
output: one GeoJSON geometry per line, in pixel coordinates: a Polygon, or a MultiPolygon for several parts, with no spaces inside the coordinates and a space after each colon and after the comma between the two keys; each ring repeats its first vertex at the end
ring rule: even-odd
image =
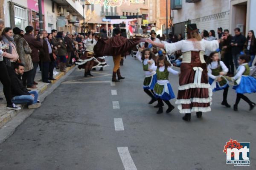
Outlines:
{"type": "Polygon", "coordinates": [[[38,83],[35,82],[35,74],[38,67],[39,62],[39,52],[38,50],[42,48],[43,46],[43,35],[40,36],[39,40],[36,40],[36,38],[33,35],[33,27],[32,26],[26,26],[26,34],[24,35],[24,39],[26,42],[29,43],[30,48],[32,49],[31,58],[33,62],[33,69],[31,76],[28,76],[27,80],[27,88],[37,88],[35,85],[38,83]]]}

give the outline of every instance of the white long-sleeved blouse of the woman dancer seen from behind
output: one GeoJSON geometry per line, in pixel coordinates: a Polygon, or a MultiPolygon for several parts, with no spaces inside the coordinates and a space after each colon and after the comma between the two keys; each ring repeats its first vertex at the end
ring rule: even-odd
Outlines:
{"type": "Polygon", "coordinates": [[[167,43],[164,45],[167,53],[173,53],[175,51],[181,50],[181,52],[185,53],[187,51],[205,51],[206,49],[210,51],[215,51],[219,48],[218,40],[207,41],[188,41],[181,40],[175,43],[167,43]]]}

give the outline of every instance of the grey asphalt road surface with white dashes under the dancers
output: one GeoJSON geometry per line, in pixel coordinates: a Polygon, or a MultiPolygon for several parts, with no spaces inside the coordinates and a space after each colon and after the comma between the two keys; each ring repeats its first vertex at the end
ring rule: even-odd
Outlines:
{"type": "MultiPolygon", "coordinates": [[[[238,112],[225,108],[218,91],[202,119],[194,113],[184,122],[177,105],[157,115],[142,89],[140,62],[127,57],[121,66],[125,79],[111,85],[113,61],[107,60],[111,66],[93,71],[93,77],[79,70],[70,74],[0,144],[0,170],[256,169],[256,109],[249,112],[244,101],[238,112]],[[250,167],[226,164],[222,150],[230,138],[250,142],[250,167]]],[[[177,94],[178,77],[170,75],[169,81],[177,94]]],[[[255,94],[247,96],[256,101],[255,94]]],[[[230,105],[235,99],[230,88],[230,105]]]]}

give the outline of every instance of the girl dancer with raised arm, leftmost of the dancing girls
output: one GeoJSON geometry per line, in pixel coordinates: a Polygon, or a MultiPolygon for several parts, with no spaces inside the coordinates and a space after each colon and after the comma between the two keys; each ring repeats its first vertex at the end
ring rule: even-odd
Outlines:
{"type": "Polygon", "coordinates": [[[157,82],[156,72],[153,70],[154,64],[154,54],[150,51],[150,48],[142,47],[136,53],[137,59],[142,62],[143,71],[145,72],[145,79],[143,83],[143,89],[148,96],[151,97],[151,101],[148,102],[149,105],[157,101],[154,97],[154,85],[157,82]],[[141,54],[142,51],[142,54],[141,54]]]}

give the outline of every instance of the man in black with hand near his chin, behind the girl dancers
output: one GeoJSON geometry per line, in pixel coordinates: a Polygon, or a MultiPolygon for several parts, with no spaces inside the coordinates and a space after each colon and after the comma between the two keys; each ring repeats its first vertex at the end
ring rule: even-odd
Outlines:
{"type": "Polygon", "coordinates": [[[224,63],[228,68],[227,76],[234,77],[234,63],[231,52],[232,36],[229,34],[229,30],[224,30],[224,40],[221,40],[222,50],[224,51],[224,63]]]}

